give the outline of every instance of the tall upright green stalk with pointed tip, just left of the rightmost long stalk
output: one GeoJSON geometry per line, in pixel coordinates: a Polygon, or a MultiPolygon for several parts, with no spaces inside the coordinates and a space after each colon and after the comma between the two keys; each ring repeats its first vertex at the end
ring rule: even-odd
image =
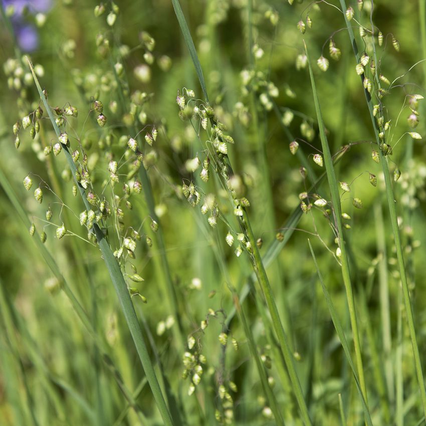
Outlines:
{"type": "Polygon", "coordinates": [[[324,155],[324,163],[325,169],[327,172],[328,184],[331,192],[331,201],[333,203],[334,208],[334,220],[337,227],[337,237],[339,239],[339,247],[341,250],[341,263],[342,263],[342,276],[343,283],[346,289],[346,298],[348,301],[349,308],[349,316],[352,327],[353,334],[353,343],[355,347],[355,358],[356,358],[356,366],[359,375],[359,383],[362,390],[362,395],[364,399],[367,401],[367,389],[365,387],[365,379],[364,379],[364,368],[362,365],[362,357],[361,357],[361,344],[359,340],[359,332],[358,332],[358,323],[356,320],[356,310],[355,310],[355,301],[353,296],[352,283],[350,278],[350,270],[349,270],[349,258],[345,246],[345,241],[343,239],[343,223],[342,223],[342,208],[340,205],[340,195],[339,195],[339,186],[337,184],[336,174],[334,172],[333,160],[330,153],[330,147],[328,145],[327,136],[325,134],[325,126],[321,115],[321,108],[318,99],[318,93],[315,85],[314,74],[312,72],[312,66],[309,59],[308,49],[305,44],[305,52],[308,58],[309,65],[309,75],[311,77],[312,84],[312,92],[314,96],[315,110],[317,113],[318,126],[321,138],[322,151],[324,155]]]}

